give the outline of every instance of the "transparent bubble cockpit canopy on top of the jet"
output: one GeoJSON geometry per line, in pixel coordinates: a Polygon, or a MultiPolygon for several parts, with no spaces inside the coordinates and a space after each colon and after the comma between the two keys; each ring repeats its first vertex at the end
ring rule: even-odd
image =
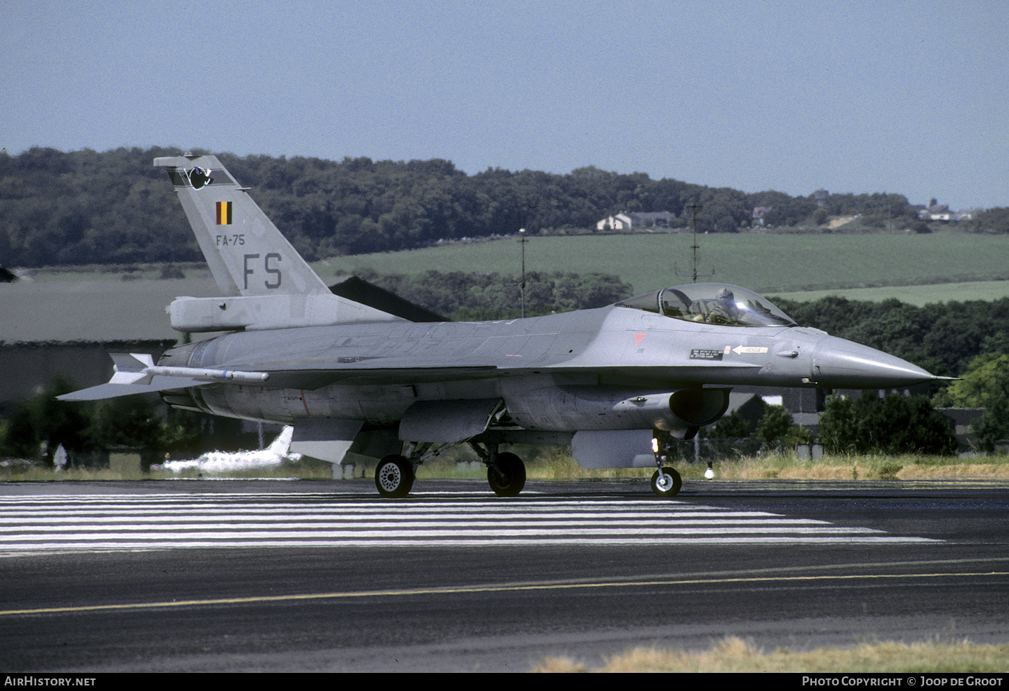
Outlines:
{"type": "Polygon", "coordinates": [[[784,312],[753,291],[727,283],[689,283],[629,298],[616,307],[645,310],[703,324],[796,326],[784,312]]]}

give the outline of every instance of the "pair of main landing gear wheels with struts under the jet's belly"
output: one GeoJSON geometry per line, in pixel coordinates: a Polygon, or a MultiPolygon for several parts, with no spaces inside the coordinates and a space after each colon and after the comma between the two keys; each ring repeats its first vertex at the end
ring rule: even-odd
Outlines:
{"type": "MultiPolygon", "coordinates": [[[[498,453],[496,444],[478,444],[473,441],[467,443],[487,466],[487,484],[494,494],[518,496],[526,486],[526,464],[522,459],[513,453],[498,453]]],[[[407,456],[393,454],[378,461],[375,466],[375,487],[378,493],[390,499],[407,496],[414,486],[417,466],[457,444],[446,444],[438,448],[432,446],[411,443],[407,447],[407,456]]]]}

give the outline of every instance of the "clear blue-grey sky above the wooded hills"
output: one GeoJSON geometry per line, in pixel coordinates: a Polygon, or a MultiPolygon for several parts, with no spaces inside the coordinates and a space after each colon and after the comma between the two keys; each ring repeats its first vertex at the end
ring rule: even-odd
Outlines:
{"type": "Polygon", "coordinates": [[[0,0],[0,147],[1009,206],[1009,3],[0,0]]]}

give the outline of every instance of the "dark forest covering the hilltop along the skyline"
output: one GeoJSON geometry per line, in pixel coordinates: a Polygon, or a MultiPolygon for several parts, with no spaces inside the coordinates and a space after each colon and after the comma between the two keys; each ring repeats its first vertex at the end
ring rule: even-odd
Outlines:
{"type": "MultiPolygon", "coordinates": [[[[0,265],[202,260],[172,186],[151,165],[155,156],[181,153],[160,147],[0,153],[0,265]]],[[[522,227],[586,232],[621,211],[668,211],[677,217],[674,227],[685,227],[691,204],[703,206],[697,227],[710,232],[749,227],[755,207],[772,208],[764,216],[770,226],[814,228],[829,217],[856,215],[867,229],[919,223],[897,194],[831,194],[817,206],[812,195],[749,194],[592,166],[567,175],[489,168],[469,176],[440,159],[219,157],[310,261],[522,227]]],[[[1009,230],[1009,219],[1004,225],[1009,230]]]]}

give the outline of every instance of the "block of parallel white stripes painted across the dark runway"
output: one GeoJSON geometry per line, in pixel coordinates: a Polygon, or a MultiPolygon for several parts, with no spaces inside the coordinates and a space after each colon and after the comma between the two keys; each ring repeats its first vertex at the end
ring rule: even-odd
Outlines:
{"type": "Polygon", "coordinates": [[[277,493],[0,497],[0,555],[110,550],[922,542],[683,501],[277,493]]]}

